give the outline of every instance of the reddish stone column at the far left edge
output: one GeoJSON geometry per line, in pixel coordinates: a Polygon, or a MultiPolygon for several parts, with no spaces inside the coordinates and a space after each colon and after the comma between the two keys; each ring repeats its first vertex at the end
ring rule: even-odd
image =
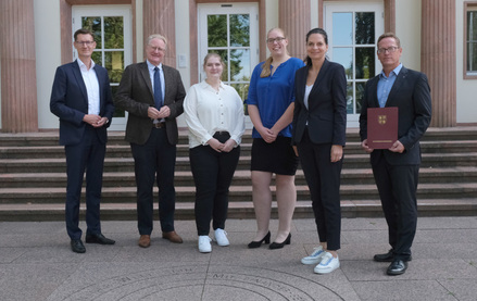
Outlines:
{"type": "Polygon", "coordinates": [[[0,1],[2,131],[38,131],[34,0],[0,1]]]}

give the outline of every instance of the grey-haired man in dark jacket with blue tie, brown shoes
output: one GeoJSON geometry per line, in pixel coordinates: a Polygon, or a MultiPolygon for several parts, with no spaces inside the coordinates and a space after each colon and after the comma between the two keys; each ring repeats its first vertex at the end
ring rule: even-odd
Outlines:
{"type": "Polygon", "coordinates": [[[167,40],[151,35],[147,61],[126,67],[114,102],[129,113],[126,140],[135,160],[139,247],[151,243],[154,178],[159,187],[159,218],[162,237],[181,243],[174,229],[174,170],[178,140],[176,117],[184,112],[186,96],[177,70],[163,65],[167,40]]]}

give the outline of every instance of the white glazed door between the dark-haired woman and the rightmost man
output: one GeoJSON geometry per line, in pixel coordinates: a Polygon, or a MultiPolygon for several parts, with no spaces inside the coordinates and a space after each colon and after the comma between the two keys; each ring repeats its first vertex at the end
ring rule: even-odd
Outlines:
{"type": "Polygon", "coordinates": [[[325,3],[329,60],[344,66],[348,127],[359,127],[366,81],[380,72],[376,40],[385,30],[382,1],[325,3]]]}

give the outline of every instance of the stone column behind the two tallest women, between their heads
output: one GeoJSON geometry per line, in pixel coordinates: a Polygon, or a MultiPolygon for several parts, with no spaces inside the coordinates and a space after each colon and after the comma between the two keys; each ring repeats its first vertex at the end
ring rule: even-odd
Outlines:
{"type": "MultiPolygon", "coordinates": [[[[278,26],[288,37],[288,52],[291,57],[306,57],[306,33],[311,29],[310,0],[279,0],[278,26]]],[[[267,28],[267,30],[271,28],[267,28]]]]}

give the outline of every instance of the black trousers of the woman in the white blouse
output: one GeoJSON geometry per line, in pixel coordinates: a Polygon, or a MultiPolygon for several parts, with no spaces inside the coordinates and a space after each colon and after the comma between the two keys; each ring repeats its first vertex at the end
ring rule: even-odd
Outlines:
{"type": "Polygon", "coordinates": [[[196,183],[196,225],[198,235],[224,229],[228,210],[228,189],[240,156],[240,146],[217,152],[209,146],[190,149],[190,166],[196,183]]]}

